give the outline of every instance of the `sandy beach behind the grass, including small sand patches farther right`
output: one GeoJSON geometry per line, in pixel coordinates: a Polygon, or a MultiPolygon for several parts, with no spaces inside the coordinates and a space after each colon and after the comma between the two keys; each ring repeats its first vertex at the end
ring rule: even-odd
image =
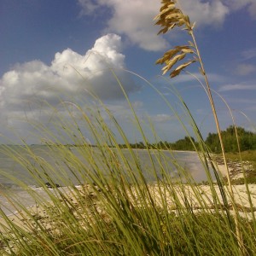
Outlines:
{"type": "MultiPolygon", "coordinates": [[[[221,175],[225,177],[226,170],[224,165],[219,163],[217,167],[221,175]]],[[[241,168],[233,166],[232,169],[231,166],[229,167],[233,179],[241,177],[241,168]]],[[[201,212],[214,213],[218,211],[224,213],[225,207],[229,208],[231,214],[235,214],[233,210],[235,207],[241,218],[251,220],[253,214],[256,213],[256,184],[248,184],[247,186],[245,184],[236,184],[232,185],[232,190],[234,199],[230,196],[228,186],[224,186],[227,205],[224,205],[221,191],[216,183],[213,184],[212,188],[206,183],[184,183],[178,185],[175,183],[172,185],[168,183],[148,183],[146,192],[147,195],[150,195],[148,197],[145,197],[137,186],[126,188],[125,193],[129,198],[130,204],[135,208],[145,207],[144,202],[147,201],[148,207],[154,204],[158,211],[165,208],[170,214],[176,215],[181,208],[186,212],[189,204],[189,211],[192,210],[196,215],[201,212]],[[217,208],[212,196],[212,189],[218,198],[217,208]],[[175,196],[173,196],[174,194],[175,196]],[[178,204],[177,201],[179,202],[178,204]]],[[[67,219],[69,224],[74,223],[74,227],[79,224],[79,229],[87,230],[90,222],[94,221],[95,213],[104,221],[111,222],[111,217],[108,215],[108,201],[105,200],[104,196],[104,193],[112,193],[109,188],[99,188],[94,184],[84,184],[66,188],[49,188],[49,191],[56,196],[51,197],[51,194],[49,194],[48,197],[44,196],[44,200],[42,198],[42,201],[32,207],[20,209],[15,214],[0,218],[2,236],[10,236],[17,230],[29,234],[46,232],[50,236],[58,236],[62,230],[67,228],[65,223],[67,219]],[[65,220],[64,222],[62,221],[63,219],[65,220]]],[[[114,195],[117,201],[118,196],[114,195]]],[[[15,248],[15,242],[11,241],[10,246],[15,248]]],[[[7,247],[2,248],[9,250],[7,247]]]]}

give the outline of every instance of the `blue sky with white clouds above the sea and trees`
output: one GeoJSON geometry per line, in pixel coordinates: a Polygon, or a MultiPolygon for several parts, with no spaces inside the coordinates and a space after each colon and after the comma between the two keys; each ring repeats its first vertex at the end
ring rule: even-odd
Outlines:
{"type": "MultiPolygon", "coordinates": [[[[195,21],[221,129],[235,121],[255,132],[256,1],[179,3],[195,21]]],[[[53,109],[65,116],[60,101],[80,102],[83,108],[96,104],[90,92],[113,112],[131,142],[140,141],[116,78],[149,140],[155,134],[170,142],[184,137],[176,113],[191,131],[174,88],[202,136],[216,132],[207,94],[197,80],[202,79],[198,63],[187,69],[192,75],[183,72],[175,79],[162,76],[162,67],[155,64],[168,49],[191,40],[180,29],[157,35],[159,9],[160,0],[0,0],[0,143],[17,137],[39,143],[42,134],[32,123],[49,125],[53,109]]]]}

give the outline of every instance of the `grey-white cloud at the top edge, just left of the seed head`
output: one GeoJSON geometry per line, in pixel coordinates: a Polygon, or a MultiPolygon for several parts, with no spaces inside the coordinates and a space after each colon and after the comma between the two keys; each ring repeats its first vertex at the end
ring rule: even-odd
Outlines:
{"type": "Polygon", "coordinates": [[[132,44],[138,44],[142,49],[155,51],[168,46],[166,39],[157,36],[160,28],[154,26],[160,1],[79,0],[79,4],[86,15],[95,15],[102,7],[110,8],[112,16],[107,21],[106,31],[125,34],[132,44]]]}

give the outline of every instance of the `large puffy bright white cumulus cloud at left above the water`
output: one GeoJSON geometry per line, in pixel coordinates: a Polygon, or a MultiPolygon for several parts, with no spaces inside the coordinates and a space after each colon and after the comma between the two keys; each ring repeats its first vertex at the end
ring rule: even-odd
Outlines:
{"type": "MultiPolygon", "coordinates": [[[[38,60],[16,64],[0,79],[1,124],[14,125],[13,120],[21,116],[38,117],[45,107],[42,102],[55,107],[60,100],[85,98],[89,92],[103,100],[124,99],[111,70],[126,93],[138,87],[123,69],[125,55],[121,53],[121,44],[118,35],[107,34],[98,38],[84,55],[65,49],[55,54],[50,65],[38,60]]],[[[47,113],[43,116],[42,112],[40,117],[47,119],[47,113]]]]}

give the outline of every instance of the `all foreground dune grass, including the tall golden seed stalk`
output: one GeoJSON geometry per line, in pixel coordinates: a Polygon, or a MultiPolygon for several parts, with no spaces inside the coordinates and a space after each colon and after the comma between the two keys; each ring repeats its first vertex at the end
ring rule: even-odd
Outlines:
{"type": "MultiPolygon", "coordinates": [[[[201,64],[206,79],[214,119],[211,88],[203,69],[193,34],[194,25],[177,7],[177,1],[162,1],[157,23],[160,32],[184,26],[194,43],[177,46],[160,59],[168,72],[186,55],[195,58],[172,71],[178,75],[191,63],[201,64]]],[[[115,74],[113,73],[115,76],[115,74]]],[[[115,76],[116,77],[116,76],[115,76]]],[[[119,79],[116,77],[117,81],[119,79]]],[[[121,90],[122,84],[119,83],[121,90]]],[[[149,84],[152,86],[153,84],[149,84]]],[[[1,170],[1,175],[26,190],[36,205],[27,208],[12,195],[9,203],[19,211],[7,216],[0,210],[0,250],[3,255],[253,255],[256,253],[255,217],[247,187],[247,206],[236,201],[233,188],[224,185],[212,154],[182,96],[175,88],[186,120],[178,116],[171,102],[154,88],[195,145],[197,157],[207,174],[207,186],[195,183],[188,170],[172,158],[173,152],[148,148],[148,138],[141,120],[124,96],[133,115],[134,129],[146,145],[147,170],[137,148],[131,144],[118,120],[100,99],[96,105],[61,102],[68,117],[58,110],[49,130],[32,123],[44,138],[44,146],[32,148],[26,143],[14,148],[5,145],[2,154],[9,156],[26,172],[28,180],[42,188],[40,193],[27,180],[1,170]],[[98,108],[96,108],[98,106],[98,108]],[[72,112],[69,111],[72,107],[72,112]],[[189,127],[188,125],[189,124],[189,127]],[[193,136],[189,129],[194,132],[193,136]],[[53,132],[53,131],[57,131],[53,132]],[[84,137],[84,131],[92,143],[84,137]],[[117,139],[119,137],[119,140],[117,139]],[[120,144],[125,145],[120,148],[120,144]],[[43,158],[42,154],[46,157],[43,158]],[[172,160],[172,167],[167,162],[172,160]],[[168,167],[167,167],[168,166],[168,167]],[[173,176],[174,173],[176,175],[173,176]],[[212,172],[214,175],[212,175],[212,172]],[[29,178],[28,178],[29,177],[29,178]],[[150,182],[148,182],[150,177],[150,182]],[[42,194],[43,193],[43,194],[42,194]],[[44,196],[42,196],[44,195],[44,196]]],[[[154,133],[153,125],[149,127],[154,133]]],[[[221,141],[221,136],[219,137],[221,141]]],[[[157,142],[155,142],[157,145],[157,142]]],[[[223,145],[224,147],[224,145],[223,145]]],[[[223,148],[223,158],[225,154],[223,148]]],[[[227,169],[228,170],[228,169],[227,169]]],[[[229,177],[229,172],[227,172],[229,177]]],[[[246,183],[247,184],[247,183],[246,183]]]]}

